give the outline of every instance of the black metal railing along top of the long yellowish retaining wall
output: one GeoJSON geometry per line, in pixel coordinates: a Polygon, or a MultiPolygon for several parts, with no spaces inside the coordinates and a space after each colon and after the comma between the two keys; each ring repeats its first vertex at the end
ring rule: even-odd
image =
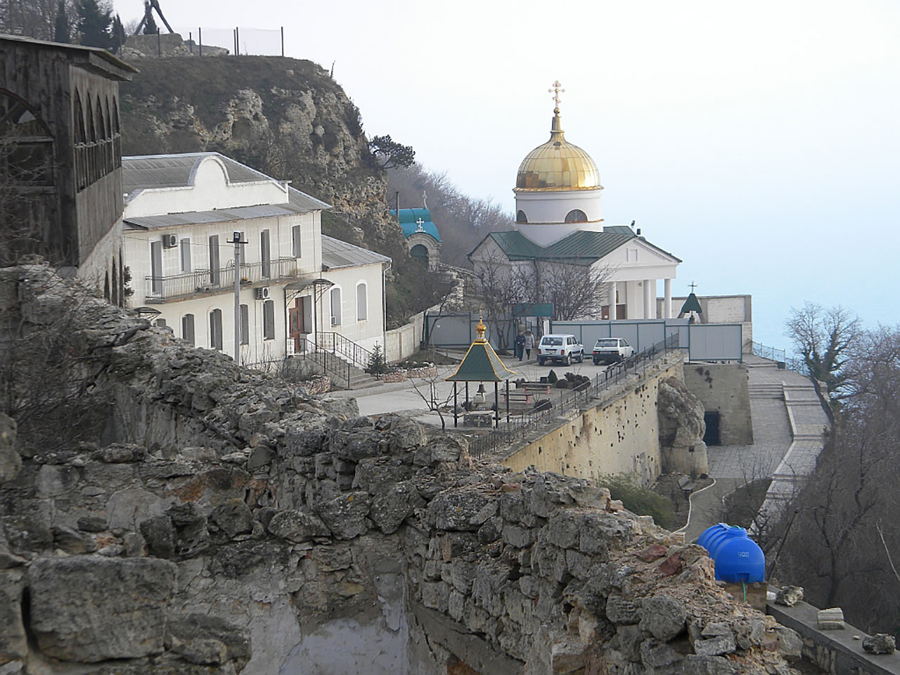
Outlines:
{"type": "Polygon", "coordinates": [[[625,361],[608,366],[602,374],[595,375],[592,382],[583,383],[574,390],[561,390],[558,399],[553,394],[548,394],[543,405],[538,401],[534,409],[510,416],[509,421],[502,428],[494,429],[471,442],[469,454],[480,459],[487,453],[509,446],[526,437],[554,418],[559,418],[572,410],[581,410],[587,407],[590,399],[600,392],[607,390],[626,377],[643,373],[658,358],[679,348],[678,334],[671,335],[625,361]]]}

